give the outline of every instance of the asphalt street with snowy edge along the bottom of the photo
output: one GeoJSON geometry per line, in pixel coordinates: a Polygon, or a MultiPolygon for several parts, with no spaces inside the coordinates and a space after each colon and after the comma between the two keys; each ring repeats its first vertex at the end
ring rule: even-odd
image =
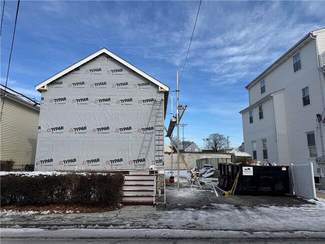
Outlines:
{"type": "Polygon", "coordinates": [[[324,232],[245,232],[184,229],[1,228],[1,244],[10,243],[324,243],[324,232]]]}

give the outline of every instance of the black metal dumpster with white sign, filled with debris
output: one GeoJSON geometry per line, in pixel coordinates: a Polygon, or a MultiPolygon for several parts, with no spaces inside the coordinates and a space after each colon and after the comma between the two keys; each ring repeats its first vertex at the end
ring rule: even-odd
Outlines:
{"type": "Polygon", "coordinates": [[[280,195],[290,193],[289,166],[238,165],[219,163],[219,183],[223,190],[231,189],[239,172],[235,193],[247,195],[280,195]]]}

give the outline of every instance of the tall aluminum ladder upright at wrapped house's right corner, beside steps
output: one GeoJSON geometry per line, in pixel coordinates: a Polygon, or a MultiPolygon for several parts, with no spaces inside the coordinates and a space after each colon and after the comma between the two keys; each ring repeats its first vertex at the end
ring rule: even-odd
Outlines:
{"type": "Polygon", "coordinates": [[[164,125],[163,99],[154,100],[154,190],[153,205],[163,203],[166,206],[165,170],[164,170],[164,125]]]}

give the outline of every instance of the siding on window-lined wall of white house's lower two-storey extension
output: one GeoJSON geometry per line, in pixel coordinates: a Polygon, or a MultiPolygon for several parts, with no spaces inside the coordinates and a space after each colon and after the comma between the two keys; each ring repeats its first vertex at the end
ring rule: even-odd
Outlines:
{"type": "Polygon", "coordinates": [[[252,153],[252,141],[256,141],[257,160],[266,163],[266,160],[278,163],[277,142],[274,133],[274,117],[272,100],[263,103],[263,118],[259,119],[258,104],[252,108],[253,122],[249,123],[249,111],[242,113],[245,152],[252,153]],[[267,143],[267,159],[263,159],[262,139],[267,143]]]}

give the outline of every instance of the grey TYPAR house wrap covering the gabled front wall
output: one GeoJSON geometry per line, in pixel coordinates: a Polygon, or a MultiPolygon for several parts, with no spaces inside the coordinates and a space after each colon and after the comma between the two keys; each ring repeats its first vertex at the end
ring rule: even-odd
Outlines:
{"type": "MultiPolygon", "coordinates": [[[[42,91],[35,170],[147,168],[155,144],[163,145],[155,143],[154,131],[163,125],[163,102],[155,104],[161,99],[156,84],[106,54],[49,83],[42,91]]],[[[163,138],[163,131],[156,133],[163,138]]]]}

